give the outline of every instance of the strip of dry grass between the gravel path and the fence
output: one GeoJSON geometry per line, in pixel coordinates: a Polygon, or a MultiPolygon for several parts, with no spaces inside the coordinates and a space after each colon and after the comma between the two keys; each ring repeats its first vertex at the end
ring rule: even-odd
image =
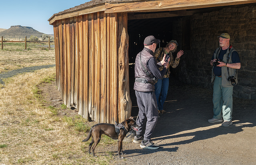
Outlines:
{"type": "Polygon", "coordinates": [[[54,53],[54,49],[44,48],[42,44],[27,43],[25,50],[25,43],[4,43],[4,49],[0,50],[0,73],[23,67],[55,64],[54,53]]]}

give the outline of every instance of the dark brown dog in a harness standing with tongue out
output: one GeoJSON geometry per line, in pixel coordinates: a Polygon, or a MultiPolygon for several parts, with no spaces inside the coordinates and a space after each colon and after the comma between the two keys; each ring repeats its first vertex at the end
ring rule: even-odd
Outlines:
{"type": "Polygon", "coordinates": [[[92,128],[90,129],[89,135],[86,139],[84,139],[83,141],[88,141],[90,139],[90,137],[92,136],[92,142],[89,144],[89,154],[91,154],[91,147],[92,144],[95,143],[92,147],[92,155],[94,157],[94,149],[96,147],[96,145],[98,145],[98,143],[100,142],[100,138],[102,134],[107,135],[108,137],[111,137],[112,139],[118,139],[118,156],[119,158],[123,158],[121,157],[120,153],[122,155],[124,155],[123,153],[123,139],[126,136],[126,133],[130,131],[130,129],[134,129],[135,131],[138,130],[138,125],[136,125],[135,120],[133,119],[133,117],[130,117],[128,119],[126,119],[125,121],[123,121],[121,123],[124,129],[120,129],[120,133],[119,135],[116,133],[116,129],[115,129],[115,125],[114,124],[108,124],[108,123],[98,123],[95,124],[94,126],[92,126],[92,128]]]}

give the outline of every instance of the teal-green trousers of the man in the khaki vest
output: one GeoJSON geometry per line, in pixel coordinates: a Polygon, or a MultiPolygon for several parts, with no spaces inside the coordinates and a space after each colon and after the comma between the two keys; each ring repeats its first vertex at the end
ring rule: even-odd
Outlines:
{"type": "Polygon", "coordinates": [[[233,110],[233,87],[222,87],[222,78],[215,76],[213,84],[213,118],[230,121],[233,110]]]}

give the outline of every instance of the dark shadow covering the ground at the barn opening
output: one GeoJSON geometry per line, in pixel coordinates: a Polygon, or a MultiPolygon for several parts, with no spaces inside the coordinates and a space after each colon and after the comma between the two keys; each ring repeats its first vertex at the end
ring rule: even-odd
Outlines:
{"type": "MultiPolygon", "coordinates": [[[[132,78],[130,78],[132,81],[132,78]]],[[[138,106],[130,83],[132,99],[132,116],[138,115],[138,106]]],[[[189,85],[170,78],[168,96],[164,103],[166,114],[160,114],[155,131],[154,140],[192,137],[183,141],[174,141],[161,146],[181,145],[210,139],[218,135],[235,134],[243,131],[244,127],[256,126],[256,101],[233,98],[233,125],[221,127],[220,123],[208,123],[212,118],[212,89],[189,85]]]]}

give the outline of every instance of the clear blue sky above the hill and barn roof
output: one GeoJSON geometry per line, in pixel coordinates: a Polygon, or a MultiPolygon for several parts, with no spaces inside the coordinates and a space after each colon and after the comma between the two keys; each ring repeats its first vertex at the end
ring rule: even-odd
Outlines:
{"type": "Polygon", "coordinates": [[[53,34],[48,19],[55,13],[84,4],[90,0],[1,0],[0,28],[14,25],[29,26],[35,30],[53,34]]]}

